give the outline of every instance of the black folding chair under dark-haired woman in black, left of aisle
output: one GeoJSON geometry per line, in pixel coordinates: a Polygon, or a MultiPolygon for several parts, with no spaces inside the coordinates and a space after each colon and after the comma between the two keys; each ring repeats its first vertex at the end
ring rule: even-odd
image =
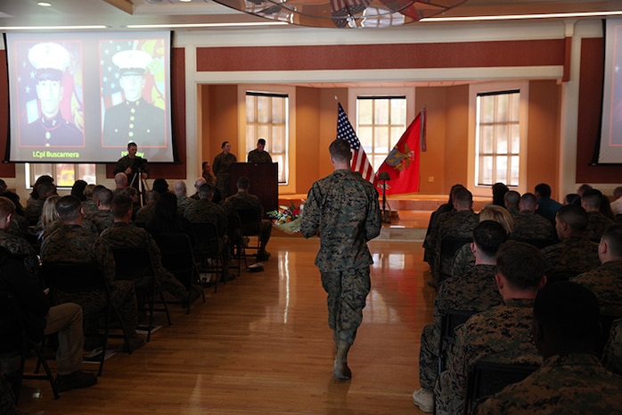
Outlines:
{"type": "MultiPolygon", "coordinates": [[[[188,290],[188,298],[185,303],[187,304],[186,314],[189,314],[192,286],[201,283],[199,268],[194,260],[190,237],[184,233],[153,233],[151,237],[153,237],[160,248],[162,266],[172,273],[188,290]]],[[[201,297],[203,298],[203,303],[205,303],[205,293],[202,291],[201,297]]]]}

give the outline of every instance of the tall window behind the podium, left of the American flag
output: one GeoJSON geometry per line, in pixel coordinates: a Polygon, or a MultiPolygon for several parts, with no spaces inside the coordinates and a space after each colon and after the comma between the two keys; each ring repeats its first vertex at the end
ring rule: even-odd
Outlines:
{"type": "Polygon", "coordinates": [[[266,139],[266,151],[279,163],[279,183],[288,183],[289,95],[246,91],[246,154],[258,138],[266,139]]]}

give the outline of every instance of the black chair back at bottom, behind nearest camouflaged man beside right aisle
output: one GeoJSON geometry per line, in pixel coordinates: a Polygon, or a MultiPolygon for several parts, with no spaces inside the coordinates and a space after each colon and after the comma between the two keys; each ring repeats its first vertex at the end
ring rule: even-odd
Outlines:
{"type": "Polygon", "coordinates": [[[476,362],[469,370],[467,378],[464,414],[474,413],[479,402],[500,392],[505,386],[527,378],[538,368],[539,366],[518,363],[476,362]]]}

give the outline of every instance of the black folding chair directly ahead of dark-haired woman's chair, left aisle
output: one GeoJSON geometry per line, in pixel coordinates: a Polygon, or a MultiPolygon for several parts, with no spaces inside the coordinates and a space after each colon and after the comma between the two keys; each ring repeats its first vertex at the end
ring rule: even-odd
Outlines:
{"type": "Polygon", "coordinates": [[[218,237],[217,226],[212,222],[192,223],[192,230],[195,240],[194,257],[199,260],[199,271],[216,276],[214,284],[214,293],[216,293],[218,280],[222,280],[225,284],[229,271],[225,270],[224,248],[218,237]]]}

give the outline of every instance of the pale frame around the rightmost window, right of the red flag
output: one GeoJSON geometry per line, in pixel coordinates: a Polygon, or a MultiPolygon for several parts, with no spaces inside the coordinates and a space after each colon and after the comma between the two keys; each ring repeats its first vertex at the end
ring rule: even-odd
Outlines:
{"type": "MultiPolygon", "coordinates": [[[[480,197],[492,197],[490,186],[479,186],[477,183],[478,149],[476,145],[477,129],[477,97],[478,94],[496,91],[520,90],[520,162],[519,162],[519,186],[510,187],[520,194],[527,192],[527,132],[528,132],[528,80],[486,82],[469,85],[469,145],[468,145],[468,171],[467,187],[471,193],[480,197]]],[[[456,154],[458,156],[458,154],[456,154]]]]}

